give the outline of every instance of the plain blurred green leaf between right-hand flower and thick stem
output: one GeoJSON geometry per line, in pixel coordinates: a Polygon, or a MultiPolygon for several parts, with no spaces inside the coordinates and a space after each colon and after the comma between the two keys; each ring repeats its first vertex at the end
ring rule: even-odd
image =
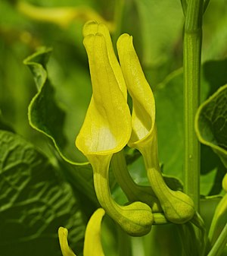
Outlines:
{"type": "Polygon", "coordinates": [[[160,162],[168,175],[182,179],[183,165],[182,69],[166,77],[154,90],[160,162]]]}

